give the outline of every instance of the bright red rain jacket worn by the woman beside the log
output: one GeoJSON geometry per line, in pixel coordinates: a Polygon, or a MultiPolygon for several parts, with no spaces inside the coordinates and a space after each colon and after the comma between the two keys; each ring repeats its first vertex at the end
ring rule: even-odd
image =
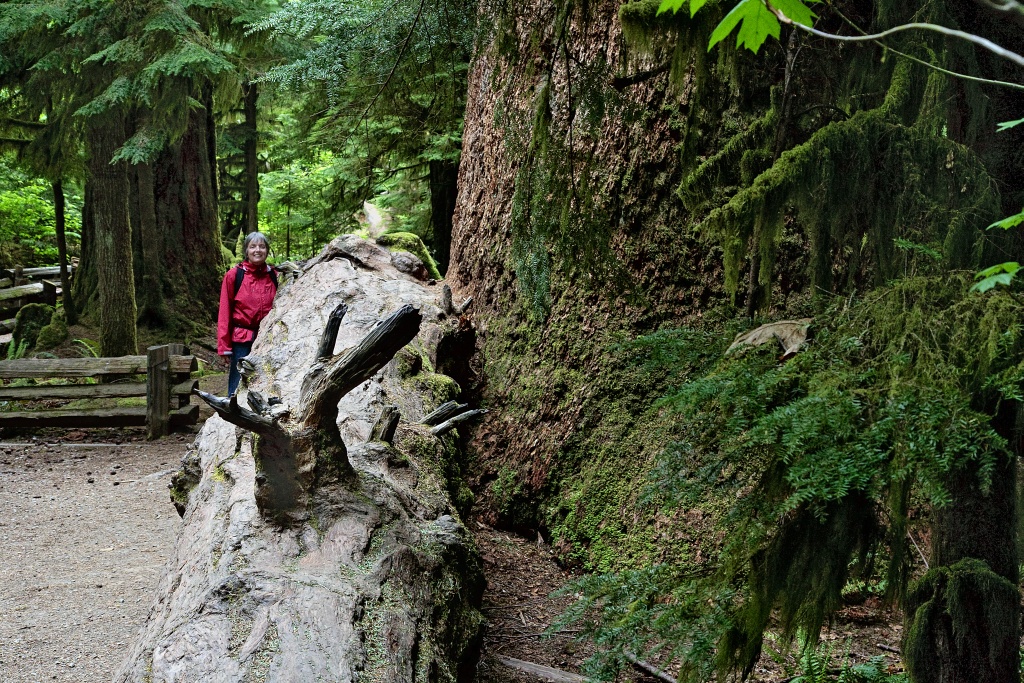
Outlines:
{"type": "Polygon", "coordinates": [[[242,262],[246,271],[239,293],[234,293],[236,268],[224,275],[220,284],[220,311],[217,315],[217,353],[227,355],[231,344],[250,342],[256,338],[260,321],[270,312],[278,287],[270,279],[269,268],[256,270],[249,261],[242,262]]]}

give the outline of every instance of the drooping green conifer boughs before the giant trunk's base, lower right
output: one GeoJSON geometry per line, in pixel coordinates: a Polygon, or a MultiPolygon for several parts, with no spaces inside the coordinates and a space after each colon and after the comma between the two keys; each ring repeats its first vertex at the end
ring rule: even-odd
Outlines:
{"type": "Polygon", "coordinates": [[[909,279],[836,301],[793,358],[731,354],[665,398],[685,438],[662,456],[648,500],[666,512],[731,501],[721,562],[586,579],[570,616],[600,643],[670,655],[701,680],[713,666],[749,672],[772,617],[784,637],[815,641],[848,581],[882,556],[900,599],[907,497],[942,507],[950,477],[985,488],[1010,457],[992,420],[1020,394],[1024,308],[966,286],[965,274],[909,279]]]}

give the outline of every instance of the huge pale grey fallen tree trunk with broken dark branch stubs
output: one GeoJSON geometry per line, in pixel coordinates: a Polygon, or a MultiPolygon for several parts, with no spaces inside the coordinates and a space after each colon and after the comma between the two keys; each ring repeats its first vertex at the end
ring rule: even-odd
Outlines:
{"type": "Polygon", "coordinates": [[[219,417],[175,476],[182,532],[116,681],[472,679],[456,439],[418,424],[458,394],[431,372],[458,323],[439,298],[351,237],[283,284],[247,390],[203,395],[219,417]]]}

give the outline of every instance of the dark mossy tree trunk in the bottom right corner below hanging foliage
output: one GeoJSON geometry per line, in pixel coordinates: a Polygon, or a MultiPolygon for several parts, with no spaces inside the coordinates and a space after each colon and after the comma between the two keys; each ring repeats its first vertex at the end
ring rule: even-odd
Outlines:
{"type": "MultiPolygon", "coordinates": [[[[1016,411],[1007,405],[996,419],[1011,439],[1016,411]]],[[[934,511],[931,568],[911,588],[905,611],[910,680],[1019,683],[1017,458],[992,472],[969,463],[947,487],[949,504],[934,511]]]]}

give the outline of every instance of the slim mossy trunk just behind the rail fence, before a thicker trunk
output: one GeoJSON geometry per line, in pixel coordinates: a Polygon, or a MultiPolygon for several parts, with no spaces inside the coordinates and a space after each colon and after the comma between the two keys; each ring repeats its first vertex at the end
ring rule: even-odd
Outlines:
{"type": "Polygon", "coordinates": [[[99,348],[104,356],[134,355],[135,280],[132,273],[128,172],[111,160],[125,139],[121,113],[90,122],[86,132],[92,182],[93,254],[99,291],[99,348]]]}

